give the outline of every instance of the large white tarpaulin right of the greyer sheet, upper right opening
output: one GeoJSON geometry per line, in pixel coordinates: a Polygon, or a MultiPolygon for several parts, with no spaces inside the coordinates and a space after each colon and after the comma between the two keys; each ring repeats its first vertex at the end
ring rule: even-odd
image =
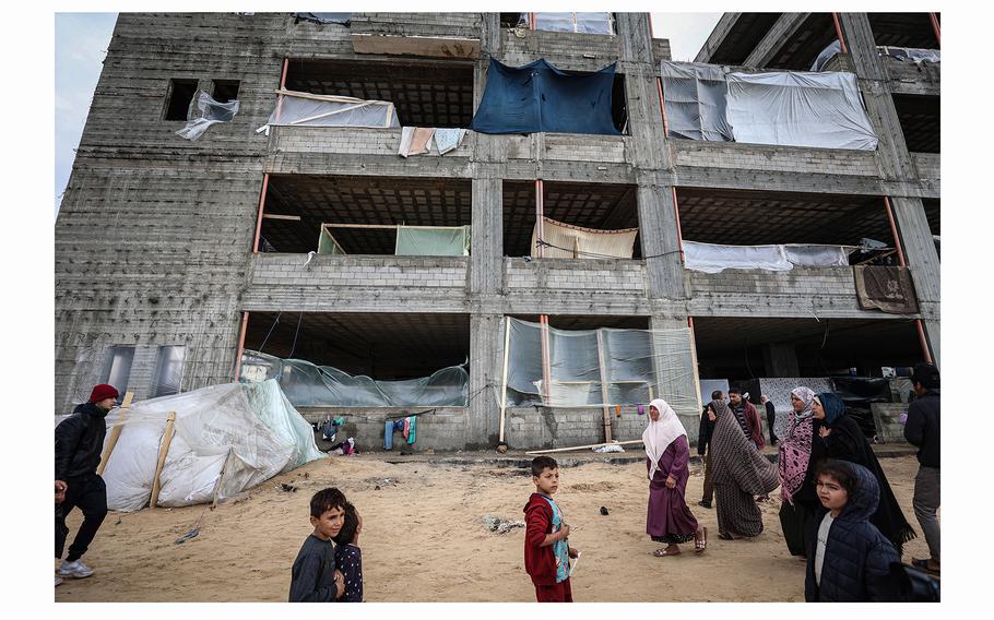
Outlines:
{"type": "Polygon", "coordinates": [[[729,73],[735,141],[873,151],[877,138],[856,76],[842,72],[729,73]]]}

